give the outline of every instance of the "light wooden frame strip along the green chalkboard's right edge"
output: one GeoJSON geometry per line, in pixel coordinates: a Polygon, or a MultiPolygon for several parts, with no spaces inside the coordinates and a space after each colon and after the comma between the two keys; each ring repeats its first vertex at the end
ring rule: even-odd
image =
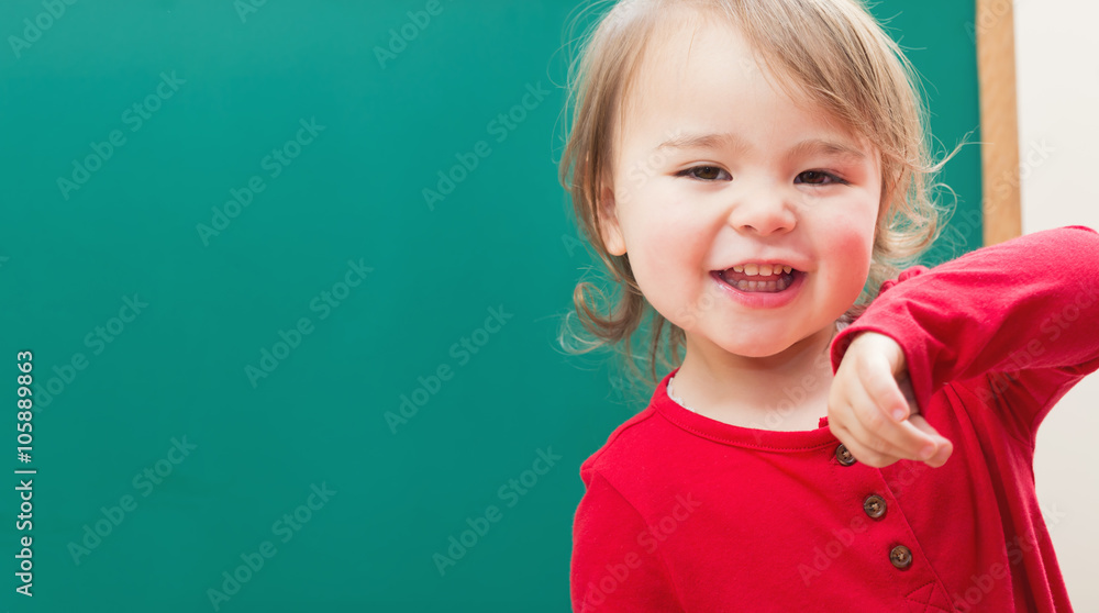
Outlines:
{"type": "Polygon", "coordinates": [[[1022,234],[1014,8],[1011,0],[976,2],[981,214],[985,245],[993,245],[1022,234]]]}

